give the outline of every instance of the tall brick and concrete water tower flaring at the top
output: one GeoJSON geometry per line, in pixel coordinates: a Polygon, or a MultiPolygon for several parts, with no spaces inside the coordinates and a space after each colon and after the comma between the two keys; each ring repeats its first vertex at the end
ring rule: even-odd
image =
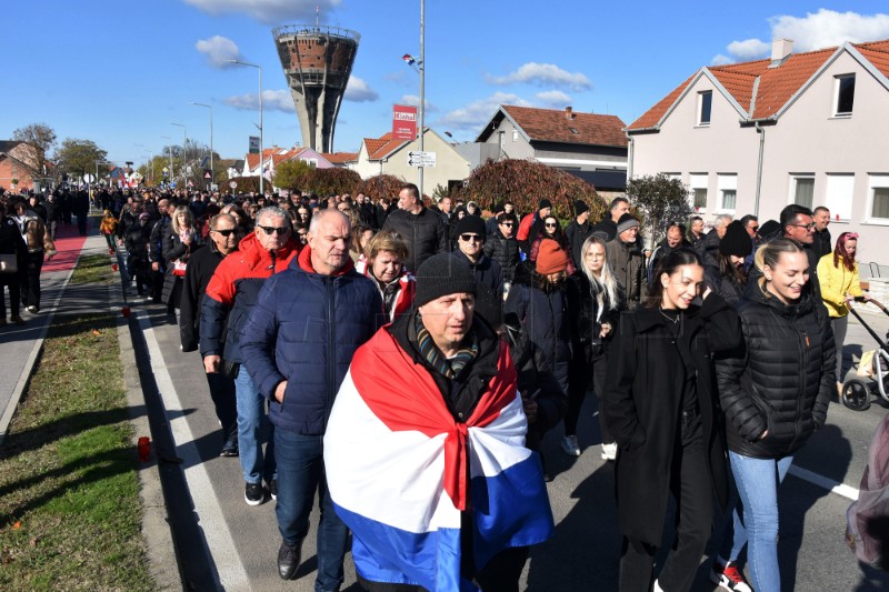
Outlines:
{"type": "Polygon", "coordinates": [[[333,130],[361,36],[349,29],[288,24],[272,29],[297,106],[302,146],[333,151],[333,130]]]}

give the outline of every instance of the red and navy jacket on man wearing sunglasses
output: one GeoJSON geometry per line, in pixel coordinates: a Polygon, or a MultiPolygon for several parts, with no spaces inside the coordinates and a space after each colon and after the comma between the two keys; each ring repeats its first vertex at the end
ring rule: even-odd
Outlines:
{"type": "Polygon", "coordinates": [[[228,362],[243,362],[238,335],[259,290],[267,278],[284,271],[296,254],[292,239],[276,253],[264,250],[252,232],[241,239],[238,251],[229,253],[216,269],[201,301],[202,357],[221,355],[228,362]]]}

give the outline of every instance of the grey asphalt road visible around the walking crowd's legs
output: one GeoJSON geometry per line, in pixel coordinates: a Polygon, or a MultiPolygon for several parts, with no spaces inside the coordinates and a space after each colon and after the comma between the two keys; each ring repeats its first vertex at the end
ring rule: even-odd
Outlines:
{"type": "MultiPolygon", "coordinates": [[[[146,329],[158,388],[177,438],[178,455],[183,460],[189,491],[182,494],[190,495],[194,504],[221,586],[227,590],[313,590],[317,515],[303,546],[299,579],[282,582],[276,572],[280,536],[274,504],[268,501],[257,508],[248,506],[243,501],[243,481],[237,459],[217,456],[221,437],[200,357],[197,352],[180,351],[178,328],[161,307],[137,304],[133,308],[139,311],[146,329]],[[169,377],[163,377],[164,373],[169,377]]],[[[872,321],[881,334],[889,329],[886,317],[868,317],[867,320],[872,321]]],[[[855,322],[850,324],[847,343],[847,355],[856,358],[862,345],[863,349],[876,347],[855,322]]],[[[798,454],[795,466],[857,490],[871,435],[887,410],[889,405],[880,402],[865,412],[832,403],[828,424],[798,454]]],[[[558,446],[560,428],[545,441],[548,468],[555,474],[549,492],[557,528],[551,541],[531,552],[523,575],[529,591],[617,590],[620,534],[613,471],[611,464],[600,459],[599,449],[595,446],[599,442],[595,412],[595,398],[590,395],[579,429],[583,449],[580,458],[569,458],[561,452],[558,446]]],[[[849,499],[789,475],[781,489],[780,503],[779,553],[785,590],[889,589],[889,574],[862,570],[846,546],[843,532],[849,499]]],[[[713,544],[711,542],[711,546],[713,544]]],[[[203,552],[199,546],[187,552],[203,552]]],[[[715,590],[707,579],[708,573],[709,562],[702,560],[695,590],[715,590]]],[[[354,584],[349,558],[343,590],[360,590],[354,584]]]]}

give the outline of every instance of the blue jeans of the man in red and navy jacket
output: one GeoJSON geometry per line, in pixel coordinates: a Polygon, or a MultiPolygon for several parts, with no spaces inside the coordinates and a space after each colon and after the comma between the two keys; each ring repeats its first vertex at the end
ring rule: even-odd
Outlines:
{"type": "Polygon", "coordinates": [[[259,394],[247,369],[241,367],[234,379],[234,395],[238,407],[238,450],[247,483],[268,483],[276,479],[274,427],[266,414],[266,399],[259,394]],[[262,442],[268,441],[266,454],[262,442]]]}

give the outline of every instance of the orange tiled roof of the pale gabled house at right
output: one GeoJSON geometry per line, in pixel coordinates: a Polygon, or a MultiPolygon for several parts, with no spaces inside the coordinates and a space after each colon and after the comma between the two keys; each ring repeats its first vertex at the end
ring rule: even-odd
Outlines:
{"type": "MultiPolygon", "coordinates": [[[[856,43],[853,47],[883,76],[889,77],[889,40],[856,43]]],[[[826,48],[806,53],[791,53],[780,66],[769,68],[771,60],[712,66],[707,70],[735,98],[749,120],[767,119],[777,114],[800,91],[811,77],[838,48],[826,48]],[[757,79],[759,84],[756,84],[757,79]],[[753,88],[757,89],[753,98],[753,88]],[[755,100],[755,102],[753,102],[755,100]],[[753,112],[750,112],[750,109],[753,112]]],[[[676,103],[697,73],[658,101],[628,129],[642,130],[657,127],[676,103]]]]}

